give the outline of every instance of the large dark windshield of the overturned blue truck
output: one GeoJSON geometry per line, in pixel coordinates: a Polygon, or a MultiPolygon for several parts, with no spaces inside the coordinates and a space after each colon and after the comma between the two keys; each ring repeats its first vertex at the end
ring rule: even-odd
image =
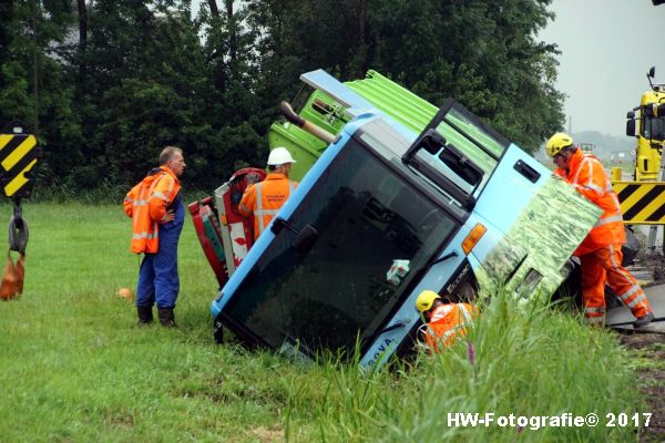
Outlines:
{"type": "Polygon", "coordinates": [[[296,251],[295,234],[283,229],[223,312],[258,341],[310,356],[351,356],[358,339],[364,352],[364,339],[386,327],[415,275],[459,227],[355,138],[288,222],[318,230],[311,249],[296,251]]]}

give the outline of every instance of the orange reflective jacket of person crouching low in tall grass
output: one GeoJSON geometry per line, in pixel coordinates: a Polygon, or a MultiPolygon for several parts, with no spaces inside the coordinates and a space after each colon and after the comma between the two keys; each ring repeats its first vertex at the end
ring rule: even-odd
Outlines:
{"type": "Polygon", "coordinates": [[[458,336],[464,337],[464,327],[473,316],[475,310],[469,303],[447,303],[434,309],[424,334],[430,351],[436,352],[437,344],[449,347],[458,336]]]}

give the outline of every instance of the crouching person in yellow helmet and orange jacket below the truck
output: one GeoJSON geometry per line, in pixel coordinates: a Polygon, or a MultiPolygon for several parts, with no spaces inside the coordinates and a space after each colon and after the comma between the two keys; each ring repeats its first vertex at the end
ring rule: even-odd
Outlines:
{"type": "Polygon", "coordinates": [[[467,334],[475,309],[469,303],[446,302],[437,292],[423,290],[416,299],[416,309],[424,317],[424,339],[430,352],[438,351],[438,344],[449,347],[458,337],[467,334]]]}

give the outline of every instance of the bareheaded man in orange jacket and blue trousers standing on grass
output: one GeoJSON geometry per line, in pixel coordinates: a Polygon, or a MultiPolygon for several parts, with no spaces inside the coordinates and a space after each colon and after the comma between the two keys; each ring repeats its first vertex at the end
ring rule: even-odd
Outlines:
{"type": "Polygon", "coordinates": [[[160,323],[175,326],[173,309],[180,291],[177,241],[185,220],[178,178],[185,166],[180,147],[164,147],[160,167],[150,171],[124,199],[124,210],[132,217],[131,250],[144,254],[136,290],[139,324],[153,321],[152,307],[156,302],[160,323]]]}

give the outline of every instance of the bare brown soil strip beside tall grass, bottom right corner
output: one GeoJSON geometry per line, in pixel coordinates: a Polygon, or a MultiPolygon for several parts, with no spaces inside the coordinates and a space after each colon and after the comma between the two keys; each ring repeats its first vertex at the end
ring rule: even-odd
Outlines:
{"type": "Polygon", "coordinates": [[[640,442],[665,441],[665,333],[622,333],[622,343],[640,359],[640,389],[653,413],[649,426],[643,427],[640,442]]]}

